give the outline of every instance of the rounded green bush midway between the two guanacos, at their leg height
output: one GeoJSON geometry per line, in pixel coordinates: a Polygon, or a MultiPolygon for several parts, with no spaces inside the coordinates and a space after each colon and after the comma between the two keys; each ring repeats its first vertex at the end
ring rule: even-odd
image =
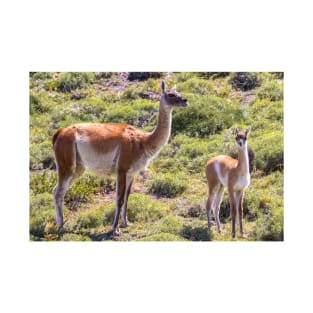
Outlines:
{"type": "Polygon", "coordinates": [[[156,175],[148,185],[149,192],[160,197],[173,198],[187,189],[187,179],[172,174],[156,175]]]}

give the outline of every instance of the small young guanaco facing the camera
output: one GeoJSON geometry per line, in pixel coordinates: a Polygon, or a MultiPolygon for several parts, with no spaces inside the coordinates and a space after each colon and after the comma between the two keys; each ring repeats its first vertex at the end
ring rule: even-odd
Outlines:
{"type": "Polygon", "coordinates": [[[250,184],[248,135],[251,127],[246,131],[235,129],[238,160],[219,155],[207,162],[205,173],[209,187],[209,196],[206,202],[208,227],[210,228],[210,214],[214,212],[218,232],[221,232],[219,212],[223,200],[224,188],[227,187],[230,202],[232,221],[232,237],[236,237],[236,214],[239,216],[239,229],[243,235],[242,215],[244,191],[250,184]]]}

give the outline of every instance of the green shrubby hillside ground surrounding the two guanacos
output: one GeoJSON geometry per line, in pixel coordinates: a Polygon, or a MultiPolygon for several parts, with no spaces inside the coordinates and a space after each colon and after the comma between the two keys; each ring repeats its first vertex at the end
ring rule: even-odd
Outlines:
{"type": "MultiPolygon", "coordinates": [[[[30,240],[230,241],[227,192],[223,232],[208,231],[204,168],[215,155],[236,156],[233,128],[251,125],[254,152],[244,200],[245,236],[236,241],[283,240],[283,73],[30,73],[30,240]],[[131,225],[112,236],[115,177],[85,173],[65,197],[58,233],[52,136],[77,122],[156,124],[160,82],[174,84],[189,107],[173,112],[172,135],[138,175],[129,198],[131,225]]],[[[214,223],[214,219],[213,219],[214,223]]]]}

